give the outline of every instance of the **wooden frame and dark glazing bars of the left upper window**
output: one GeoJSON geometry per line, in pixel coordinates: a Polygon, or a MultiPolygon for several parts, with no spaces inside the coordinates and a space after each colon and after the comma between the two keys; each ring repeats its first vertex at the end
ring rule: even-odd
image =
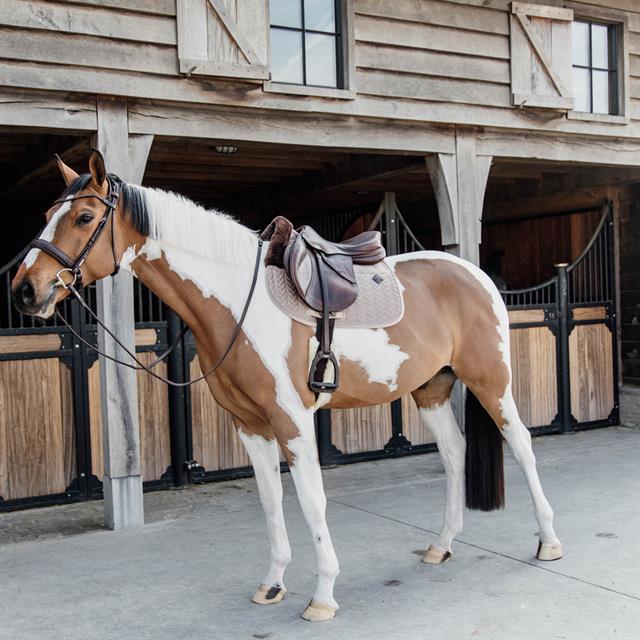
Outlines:
{"type": "Polygon", "coordinates": [[[336,40],[336,80],[337,87],[324,87],[310,84],[296,84],[282,81],[267,80],[263,83],[263,90],[273,93],[291,95],[316,96],[321,98],[339,98],[353,100],[355,91],[355,51],[354,51],[354,10],[353,0],[334,0],[336,15],[335,32],[317,31],[305,29],[304,25],[304,0],[299,0],[302,11],[301,27],[285,27],[271,25],[269,18],[269,69],[271,69],[271,29],[300,33],[302,36],[302,73],[306,80],[306,33],[331,35],[336,40]]]}

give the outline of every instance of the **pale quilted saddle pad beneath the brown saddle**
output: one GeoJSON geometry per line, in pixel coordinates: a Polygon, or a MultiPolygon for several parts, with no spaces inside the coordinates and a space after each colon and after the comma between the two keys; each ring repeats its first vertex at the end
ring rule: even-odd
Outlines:
{"type": "MultiPolygon", "coordinates": [[[[344,311],[332,313],[336,328],[382,329],[402,320],[404,300],[395,274],[386,264],[354,265],[358,283],[356,301],[344,311]]],[[[284,269],[266,268],[267,291],[273,303],[293,320],[316,326],[320,313],[307,306],[284,269]]]]}

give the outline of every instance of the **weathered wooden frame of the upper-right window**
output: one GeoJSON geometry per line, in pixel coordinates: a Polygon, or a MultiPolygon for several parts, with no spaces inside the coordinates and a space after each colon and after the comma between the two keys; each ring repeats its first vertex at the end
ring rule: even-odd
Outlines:
{"type": "MultiPolygon", "coordinates": [[[[586,122],[602,122],[607,124],[629,124],[629,21],[628,16],[620,11],[599,9],[596,7],[585,8],[574,3],[567,3],[567,7],[571,7],[575,11],[574,22],[590,22],[607,26],[615,31],[616,52],[615,52],[615,69],[616,69],[616,93],[617,93],[617,114],[592,113],[589,111],[576,111],[575,109],[567,112],[568,120],[578,120],[586,122]]],[[[591,53],[589,54],[591,55],[591,53]]],[[[573,60],[571,68],[573,69],[573,60]]]]}

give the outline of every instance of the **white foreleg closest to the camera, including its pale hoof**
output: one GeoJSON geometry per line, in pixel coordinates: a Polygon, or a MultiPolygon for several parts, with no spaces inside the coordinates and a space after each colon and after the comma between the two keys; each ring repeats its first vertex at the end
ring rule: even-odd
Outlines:
{"type": "Polygon", "coordinates": [[[286,446],[292,456],[291,476],[302,512],[313,536],[318,562],[318,584],[313,599],[302,617],[311,622],[318,622],[331,620],[338,609],[338,603],[333,598],[333,585],[338,576],[339,566],[325,519],[327,499],[322,485],[313,415],[309,413],[304,424],[298,427],[300,435],[289,440],[286,446]]]}

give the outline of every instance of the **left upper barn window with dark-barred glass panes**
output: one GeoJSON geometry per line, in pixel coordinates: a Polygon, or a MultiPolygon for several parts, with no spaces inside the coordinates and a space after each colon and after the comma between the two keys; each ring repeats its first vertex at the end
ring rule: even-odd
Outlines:
{"type": "Polygon", "coordinates": [[[344,88],[341,0],[270,0],[271,80],[344,88]]]}

